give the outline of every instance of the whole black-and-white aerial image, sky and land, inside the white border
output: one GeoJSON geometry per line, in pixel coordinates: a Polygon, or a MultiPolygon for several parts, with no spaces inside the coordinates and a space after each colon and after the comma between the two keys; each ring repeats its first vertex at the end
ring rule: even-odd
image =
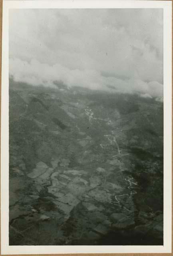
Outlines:
{"type": "Polygon", "coordinates": [[[9,246],[163,246],[163,8],[8,20],[9,246]]]}

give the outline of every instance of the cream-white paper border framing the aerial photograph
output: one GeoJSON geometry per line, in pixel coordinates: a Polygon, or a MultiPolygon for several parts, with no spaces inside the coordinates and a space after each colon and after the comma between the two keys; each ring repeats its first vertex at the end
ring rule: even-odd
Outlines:
{"type": "Polygon", "coordinates": [[[3,1],[1,85],[1,254],[171,253],[172,227],[172,1],[3,1]],[[8,11],[11,8],[163,8],[164,244],[163,246],[9,246],[8,11]]]}

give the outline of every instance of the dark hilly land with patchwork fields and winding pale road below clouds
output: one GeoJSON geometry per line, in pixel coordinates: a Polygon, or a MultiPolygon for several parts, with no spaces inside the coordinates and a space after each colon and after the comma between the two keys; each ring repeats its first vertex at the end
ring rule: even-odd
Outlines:
{"type": "Polygon", "coordinates": [[[9,80],[10,245],[163,245],[163,102],[9,80]]]}

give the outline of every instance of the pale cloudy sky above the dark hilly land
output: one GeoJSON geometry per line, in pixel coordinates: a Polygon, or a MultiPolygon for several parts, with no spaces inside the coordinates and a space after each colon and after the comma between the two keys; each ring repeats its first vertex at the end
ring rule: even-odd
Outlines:
{"type": "Polygon", "coordinates": [[[162,9],[11,9],[9,74],[163,96],[162,9]]]}

